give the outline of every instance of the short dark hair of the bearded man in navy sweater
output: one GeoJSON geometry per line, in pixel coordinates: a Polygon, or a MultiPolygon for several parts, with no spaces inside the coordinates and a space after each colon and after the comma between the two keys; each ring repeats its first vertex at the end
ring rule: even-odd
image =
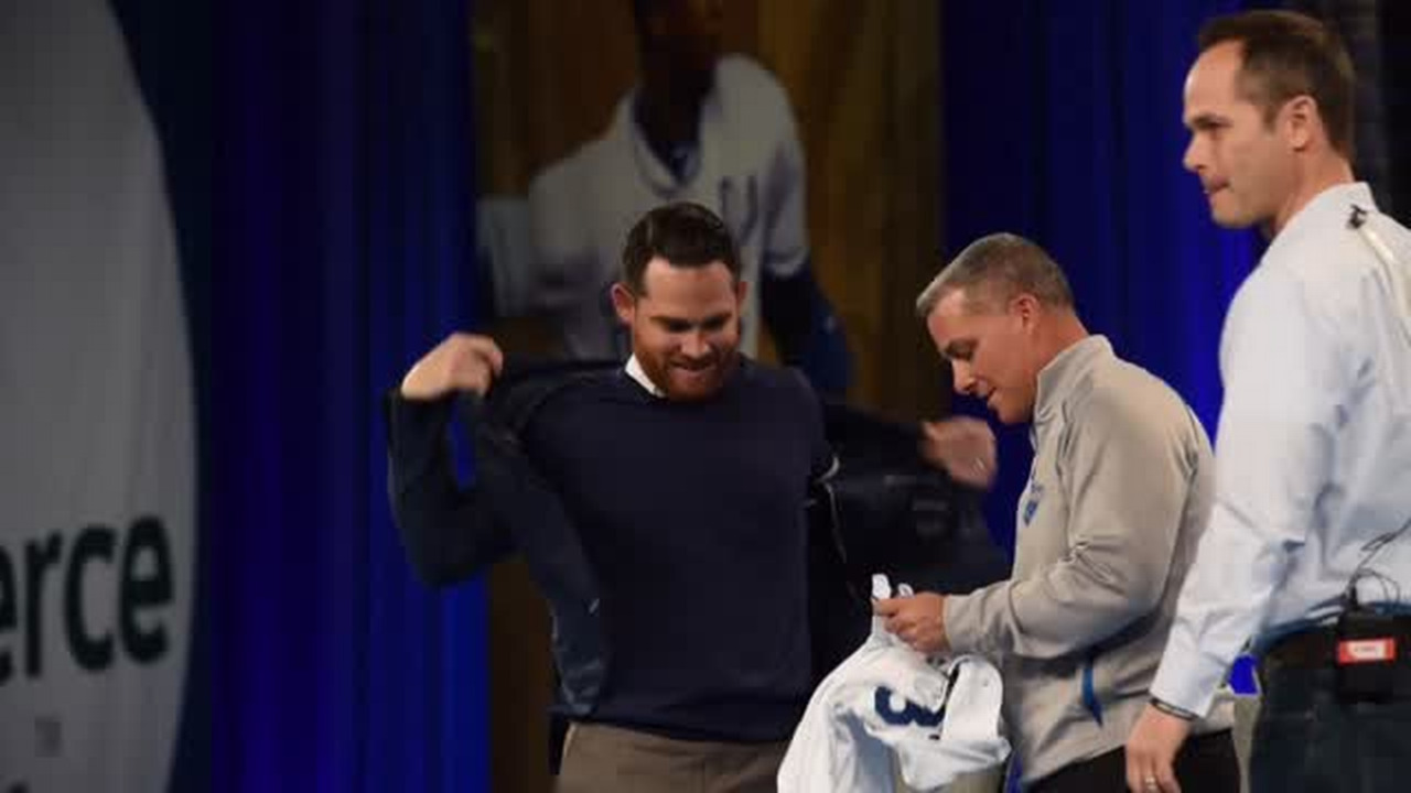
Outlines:
{"type": "Polygon", "coordinates": [[[739,281],[739,254],[729,229],[714,212],[698,203],[676,202],[659,206],[636,222],[622,247],[622,282],[634,292],[646,292],[642,275],[653,258],[672,267],[708,267],[724,262],[739,281]]]}

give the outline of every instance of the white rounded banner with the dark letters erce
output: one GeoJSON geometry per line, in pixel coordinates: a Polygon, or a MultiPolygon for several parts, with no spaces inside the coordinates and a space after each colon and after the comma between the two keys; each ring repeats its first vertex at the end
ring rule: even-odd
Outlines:
{"type": "Polygon", "coordinates": [[[0,11],[0,793],[161,792],[195,603],[161,152],[103,0],[0,11]]]}

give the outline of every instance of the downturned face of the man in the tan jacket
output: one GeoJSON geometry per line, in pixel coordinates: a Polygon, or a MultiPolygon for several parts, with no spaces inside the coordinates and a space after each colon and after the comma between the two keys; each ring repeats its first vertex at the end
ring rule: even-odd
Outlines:
{"type": "Polygon", "coordinates": [[[971,301],[948,292],[926,317],[926,329],[955,373],[955,392],[985,402],[1003,423],[1033,418],[1038,391],[1031,295],[971,301]]]}

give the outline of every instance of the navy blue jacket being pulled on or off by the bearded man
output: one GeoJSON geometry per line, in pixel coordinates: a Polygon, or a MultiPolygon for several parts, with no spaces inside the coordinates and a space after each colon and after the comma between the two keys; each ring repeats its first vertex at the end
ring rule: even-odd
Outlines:
{"type": "MultiPolygon", "coordinates": [[[[449,440],[450,401],[408,402],[394,391],[385,404],[389,498],[413,567],[429,584],[443,586],[519,553],[549,605],[559,710],[570,717],[591,715],[612,648],[600,587],[573,518],[518,437],[549,396],[612,370],[621,364],[511,361],[487,398],[460,399],[461,426],[476,457],[474,500],[456,501],[460,485],[447,456],[425,454],[449,440]],[[452,502],[464,514],[447,516],[443,509],[452,502]]],[[[814,680],[865,638],[872,573],[917,590],[964,593],[1009,571],[985,529],[979,495],[920,459],[914,426],[838,405],[825,405],[824,420],[840,466],[813,487],[806,504],[814,680]]]]}

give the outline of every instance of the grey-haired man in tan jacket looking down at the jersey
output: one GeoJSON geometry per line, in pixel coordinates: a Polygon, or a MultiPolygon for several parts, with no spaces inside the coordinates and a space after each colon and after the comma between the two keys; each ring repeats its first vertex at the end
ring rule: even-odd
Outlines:
{"type": "MultiPolygon", "coordinates": [[[[876,611],[921,652],[982,653],[1000,667],[1026,790],[1122,792],[1122,746],[1211,509],[1209,440],[1170,387],[1088,334],[1062,271],[1034,243],[975,241],[917,310],[955,391],[1003,423],[1031,425],[1034,463],[1007,581],[876,611]]],[[[1177,761],[1182,785],[1239,790],[1232,721],[1226,703],[1197,727],[1177,761]]]]}

